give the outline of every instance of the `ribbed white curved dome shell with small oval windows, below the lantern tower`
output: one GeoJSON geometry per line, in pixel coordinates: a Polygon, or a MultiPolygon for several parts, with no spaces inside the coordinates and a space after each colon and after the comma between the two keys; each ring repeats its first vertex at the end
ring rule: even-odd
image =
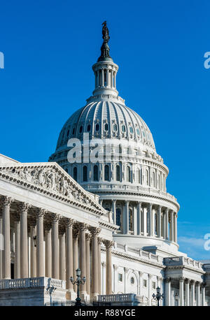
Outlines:
{"type": "Polygon", "coordinates": [[[84,132],[89,132],[90,138],[132,139],[155,150],[150,129],[137,112],[123,102],[95,101],[74,112],[62,128],[57,150],[66,147],[70,138],[81,139],[84,132]]]}

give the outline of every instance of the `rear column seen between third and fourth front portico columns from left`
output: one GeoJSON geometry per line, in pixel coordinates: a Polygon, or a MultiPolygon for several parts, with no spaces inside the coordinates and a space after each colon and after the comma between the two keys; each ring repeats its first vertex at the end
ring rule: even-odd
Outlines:
{"type": "Polygon", "coordinates": [[[45,277],[52,277],[52,231],[51,224],[45,224],[45,277]]]}

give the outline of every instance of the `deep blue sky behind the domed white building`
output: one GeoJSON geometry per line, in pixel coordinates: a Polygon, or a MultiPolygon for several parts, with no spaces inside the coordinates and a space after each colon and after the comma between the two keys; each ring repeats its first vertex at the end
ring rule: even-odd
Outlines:
{"type": "Polygon", "coordinates": [[[48,161],[66,119],[94,89],[107,20],[117,88],[146,121],[178,199],[180,249],[207,259],[210,233],[209,1],[3,1],[0,152],[48,161]]]}

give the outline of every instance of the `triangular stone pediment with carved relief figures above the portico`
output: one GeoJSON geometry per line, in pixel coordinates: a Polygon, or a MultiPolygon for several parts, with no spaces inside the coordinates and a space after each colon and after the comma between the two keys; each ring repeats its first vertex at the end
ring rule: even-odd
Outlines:
{"type": "Polygon", "coordinates": [[[106,210],[99,205],[97,198],[85,191],[56,162],[0,164],[1,177],[53,198],[78,206],[83,205],[99,214],[106,214],[106,210]]]}

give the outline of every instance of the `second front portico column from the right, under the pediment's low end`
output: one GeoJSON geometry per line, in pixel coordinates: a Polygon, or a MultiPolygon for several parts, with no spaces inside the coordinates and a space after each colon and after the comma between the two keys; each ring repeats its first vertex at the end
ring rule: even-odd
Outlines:
{"type": "Polygon", "coordinates": [[[99,294],[99,266],[98,266],[98,240],[97,235],[101,231],[100,228],[90,228],[92,233],[92,274],[91,274],[91,295],[95,298],[99,294]]]}

